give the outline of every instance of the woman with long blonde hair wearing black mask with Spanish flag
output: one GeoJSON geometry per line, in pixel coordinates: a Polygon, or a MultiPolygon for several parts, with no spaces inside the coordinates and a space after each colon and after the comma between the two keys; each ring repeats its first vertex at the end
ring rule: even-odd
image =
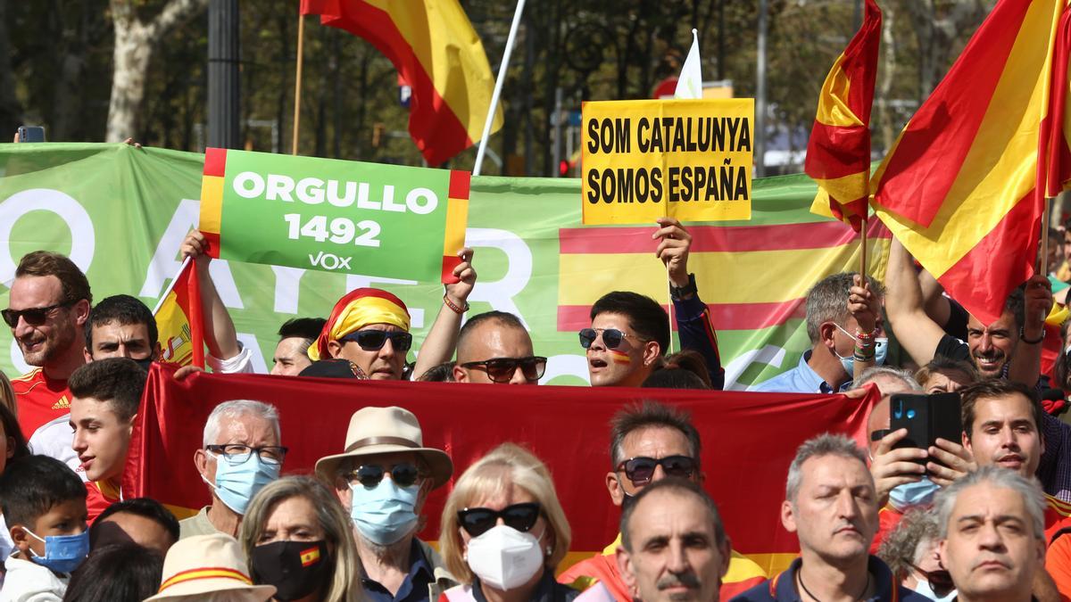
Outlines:
{"type": "Polygon", "coordinates": [[[349,516],[319,481],[285,477],[265,485],[245,511],[240,536],[253,582],[275,586],[274,600],[362,599],[349,516]]]}

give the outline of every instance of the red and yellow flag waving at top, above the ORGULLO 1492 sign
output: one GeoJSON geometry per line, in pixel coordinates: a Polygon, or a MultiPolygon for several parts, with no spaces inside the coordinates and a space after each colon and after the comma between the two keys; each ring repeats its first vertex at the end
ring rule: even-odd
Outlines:
{"type": "MultiPolygon", "coordinates": [[[[367,40],[412,86],[409,134],[441,165],[483,134],[495,78],[457,0],[301,0],[302,15],[367,40]]],[[[501,108],[491,133],[502,126],[501,108]]]]}

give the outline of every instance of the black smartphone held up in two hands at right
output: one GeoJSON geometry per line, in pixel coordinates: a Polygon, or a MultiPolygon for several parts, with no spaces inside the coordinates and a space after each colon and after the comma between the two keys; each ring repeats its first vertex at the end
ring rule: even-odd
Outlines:
{"type": "MultiPolygon", "coordinates": [[[[889,403],[889,430],[907,430],[895,448],[926,449],[938,438],[959,441],[963,432],[960,420],[960,393],[893,393],[889,403]]],[[[918,464],[931,462],[917,460],[918,464]]]]}

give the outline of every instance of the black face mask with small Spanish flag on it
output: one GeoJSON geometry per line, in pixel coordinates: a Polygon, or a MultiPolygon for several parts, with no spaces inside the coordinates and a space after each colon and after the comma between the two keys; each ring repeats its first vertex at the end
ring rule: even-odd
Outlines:
{"type": "Polygon", "coordinates": [[[275,541],[253,548],[253,583],[274,585],[274,600],[298,600],[327,585],[331,558],[326,541],[275,541]]]}

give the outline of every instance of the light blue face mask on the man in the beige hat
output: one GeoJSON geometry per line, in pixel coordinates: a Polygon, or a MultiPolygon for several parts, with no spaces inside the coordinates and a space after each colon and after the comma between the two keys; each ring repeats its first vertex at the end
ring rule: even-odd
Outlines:
{"type": "Polygon", "coordinates": [[[412,532],[417,526],[417,494],[420,485],[399,487],[383,477],[375,487],[350,484],[353,503],[349,515],[361,535],[372,543],[390,545],[412,532]]]}

